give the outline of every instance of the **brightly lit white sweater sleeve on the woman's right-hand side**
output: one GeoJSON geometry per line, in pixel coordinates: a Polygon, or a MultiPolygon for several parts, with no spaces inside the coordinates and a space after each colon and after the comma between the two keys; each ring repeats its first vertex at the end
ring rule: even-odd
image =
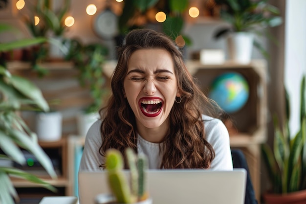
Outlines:
{"type": "Polygon", "coordinates": [[[219,119],[204,122],[207,141],[215,150],[215,159],[211,163],[212,170],[233,170],[228,131],[219,119]]]}

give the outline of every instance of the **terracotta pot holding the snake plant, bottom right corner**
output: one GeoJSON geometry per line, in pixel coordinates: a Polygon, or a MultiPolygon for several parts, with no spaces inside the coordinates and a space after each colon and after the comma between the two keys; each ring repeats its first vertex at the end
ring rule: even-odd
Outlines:
{"type": "Polygon", "coordinates": [[[306,204],[306,190],[288,194],[264,194],[264,204],[306,204]]]}

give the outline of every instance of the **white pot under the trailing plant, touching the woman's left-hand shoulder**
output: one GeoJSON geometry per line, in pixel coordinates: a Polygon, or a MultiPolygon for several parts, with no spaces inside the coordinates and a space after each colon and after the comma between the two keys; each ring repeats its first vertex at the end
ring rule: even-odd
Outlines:
{"type": "Polygon", "coordinates": [[[86,136],[92,124],[99,119],[99,113],[77,114],[77,130],[79,136],[86,136]]]}

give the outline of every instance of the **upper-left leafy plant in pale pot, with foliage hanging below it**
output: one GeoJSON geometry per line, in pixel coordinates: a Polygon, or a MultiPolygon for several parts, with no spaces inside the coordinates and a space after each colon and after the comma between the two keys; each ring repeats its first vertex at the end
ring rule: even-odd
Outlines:
{"type": "MultiPolygon", "coordinates": [[[[29,2],[31,3],[31,2],[29,2]]],[[[47,60],[63,59],[68,52],[67,40],[64,37],[67,29],[64,20],[70,6],[70,0],[64,0],[58,10],[51,8],[50,0],[38,0],[36,4],[30,4],[30,15],[24,16],[23,21],[34,37],[46,37],[47,42],[32,47],[30,61],[33,70],[41,76],[47,74],[47,70],[39,65],[39,62],[47,60]],[[39,18],[36,24],[35,17],[39,18]]]]}

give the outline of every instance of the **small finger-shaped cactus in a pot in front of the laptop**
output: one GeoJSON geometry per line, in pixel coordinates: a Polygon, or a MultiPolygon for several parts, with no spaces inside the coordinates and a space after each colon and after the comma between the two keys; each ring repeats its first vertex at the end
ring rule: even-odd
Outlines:
{"type": "Polygon", "coordinates": [[[125,154],[130,168],[130,180],[123,171],[124,159],[121,152],[116,149],[106,152],[105,165],[112,194],[98,195],[98,204],[152,204],[146,188],[147,157],[144,154],[136,155],[131,148],[127,148],[125,154]]]}

